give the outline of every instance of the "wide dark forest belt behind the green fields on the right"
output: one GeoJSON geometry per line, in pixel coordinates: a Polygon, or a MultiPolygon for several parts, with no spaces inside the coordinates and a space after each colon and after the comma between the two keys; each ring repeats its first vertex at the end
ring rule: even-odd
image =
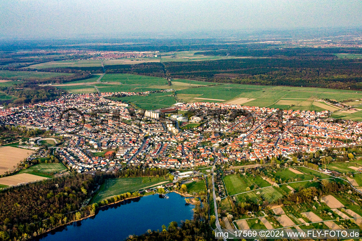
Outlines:
{"type": "Polygon", "coordinates": [[[165,62],[173,78],[252,85],[361,90],[362,60],[246,58],[165,62]]]}

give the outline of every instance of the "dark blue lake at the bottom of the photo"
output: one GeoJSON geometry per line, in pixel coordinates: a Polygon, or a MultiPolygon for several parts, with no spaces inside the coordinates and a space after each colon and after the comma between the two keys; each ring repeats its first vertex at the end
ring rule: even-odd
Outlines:
{"type": "Polygon", "coordinates": [[[95,216],[54,229],[36,240],[119,241],[147,229],[161,231],[163,224],[168,226],[172,221],[193,219],[194,205],[186,204],[185,198],[177,193],[168,196],[164,199],[154,194],[103,207],[95,216]]]}

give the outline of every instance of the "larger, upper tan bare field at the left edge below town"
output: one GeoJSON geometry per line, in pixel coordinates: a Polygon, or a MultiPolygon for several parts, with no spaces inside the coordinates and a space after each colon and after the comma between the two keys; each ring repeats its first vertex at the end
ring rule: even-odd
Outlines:
{"type": "Polygon", "coordinates": [[[33,150],[21,149],[12,146],[0,147],[0,175],[5,172],[14,171],[17,166],[28,156],[33,154],[33,150]]]}

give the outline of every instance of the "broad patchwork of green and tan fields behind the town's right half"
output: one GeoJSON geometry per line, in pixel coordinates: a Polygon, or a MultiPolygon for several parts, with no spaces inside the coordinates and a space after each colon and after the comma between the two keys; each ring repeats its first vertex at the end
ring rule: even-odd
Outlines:
{"type": "Polygon", "coordinates": [[[362,98],[361,91],[240,84],[222,84],[178,90],[176,95],[178,99],[185,102],[222,102],[246,106],[315,111],[331,108],[323,105],[322,102],[315,102],[316,99],[327,98],[341,101],[362,98]],[[318,105],[322,106],[322,108],[318,105]]]}

